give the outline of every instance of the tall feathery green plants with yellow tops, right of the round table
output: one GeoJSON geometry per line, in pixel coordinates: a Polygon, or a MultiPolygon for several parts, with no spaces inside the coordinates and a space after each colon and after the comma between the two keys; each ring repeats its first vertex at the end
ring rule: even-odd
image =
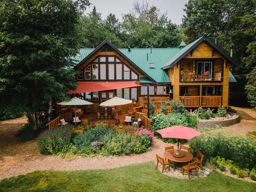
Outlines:
{"type": "Polygon", "coordinates": [[[198,151],[205,155],[203,161],[220,156],[241,168],[252,169],[256,164],[256,142],[246,136],[209,133],[192,138],[188,144],[194,156],[198,151]]]}

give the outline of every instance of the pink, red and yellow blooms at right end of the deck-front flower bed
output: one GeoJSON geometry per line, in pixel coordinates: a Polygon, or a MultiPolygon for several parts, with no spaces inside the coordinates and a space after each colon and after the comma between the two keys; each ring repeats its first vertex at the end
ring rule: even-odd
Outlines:
{"type": "Polygon", "coordinates": [[[138,131],[136,127],[127,126],[123,132],[116,133],[115,141],[107,145],[107,150],[112,155],[144,153],[152,146],[153,137],[152,131],[147,129],[138,131]]]}

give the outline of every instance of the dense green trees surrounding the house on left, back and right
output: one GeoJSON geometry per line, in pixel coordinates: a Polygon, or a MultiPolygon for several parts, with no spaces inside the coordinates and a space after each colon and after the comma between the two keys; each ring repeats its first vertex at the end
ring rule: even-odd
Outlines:
{"type": "MultiPolygon", "coordinates": [[[[207,35],[238,63],[230,105],[256,106],[256,0],[188,0],[182,24],[146,1],[118,20],[88,0],[0,1],[0,120],[25,112],[33,130],[51,119],[52,98],[75,89],[70,56],[108,39],[117,48],[178,47],[207,35]]],[[[255,108],[256,109],[256,108],[255,108]]]]}

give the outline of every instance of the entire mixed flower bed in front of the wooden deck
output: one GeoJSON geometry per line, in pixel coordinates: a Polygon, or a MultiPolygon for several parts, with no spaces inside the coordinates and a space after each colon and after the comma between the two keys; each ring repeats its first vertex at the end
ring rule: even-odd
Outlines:
{"type": "Polygon", "coordinates": [[[144,153],[153,143],[153,133],[135,126],[81,125],[84,134],[74,133],[72,125],[56,126],[37,137],[40,153],[70,159],[73,156],[130,155],[144,153]],[[120,129],[121,128],[121,129],[120,129]],[[116,131],[114,131],[116,130],[116,131]]]}

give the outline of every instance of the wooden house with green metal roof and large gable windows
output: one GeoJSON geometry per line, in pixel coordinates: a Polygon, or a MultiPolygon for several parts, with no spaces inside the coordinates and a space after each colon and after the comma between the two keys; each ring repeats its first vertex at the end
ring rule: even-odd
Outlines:
{"type": "Polygon", "coordinates": [[[229,69],[238,66],[206,36],[189,45],[182,41],[179,48],[117,49],[105,40],[95,49],[80,49],[74,59],[74,70],[78,71],[75,79],[83,89],[71,93],[93,102],[92,111],[98,111],[101,102],[114,96],[134,101],[126,111],[134,105],[145,109],[146,85],[149,101],[158,106],[177,98],[187,109],[228,106],[229,69]],[[113,89],[104,90],[104,85],[113,85],[113,89]]]}

